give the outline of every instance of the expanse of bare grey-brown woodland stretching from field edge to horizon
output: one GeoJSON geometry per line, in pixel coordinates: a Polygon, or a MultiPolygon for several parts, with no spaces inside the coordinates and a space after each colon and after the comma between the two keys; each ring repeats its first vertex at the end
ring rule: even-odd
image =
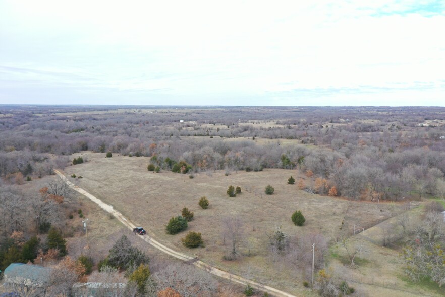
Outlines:
{"type": "Polygon", "coordinates": [[[50,174],[70,163],[66,156],[89,150],[156,156],[153,163],[163,170],[181,161],[193,171],[310,170],[351,199],[445,191],[440,139],[445,108],[0,106],[0,111],[0,176],[11,183],[50,174]],[[227,141],[234,137],[246,138],[227,141]],[[279,141],[257,141],[264,138],[279,141]],[[288,139],[294,145],[285,145],[288,139]]]}

